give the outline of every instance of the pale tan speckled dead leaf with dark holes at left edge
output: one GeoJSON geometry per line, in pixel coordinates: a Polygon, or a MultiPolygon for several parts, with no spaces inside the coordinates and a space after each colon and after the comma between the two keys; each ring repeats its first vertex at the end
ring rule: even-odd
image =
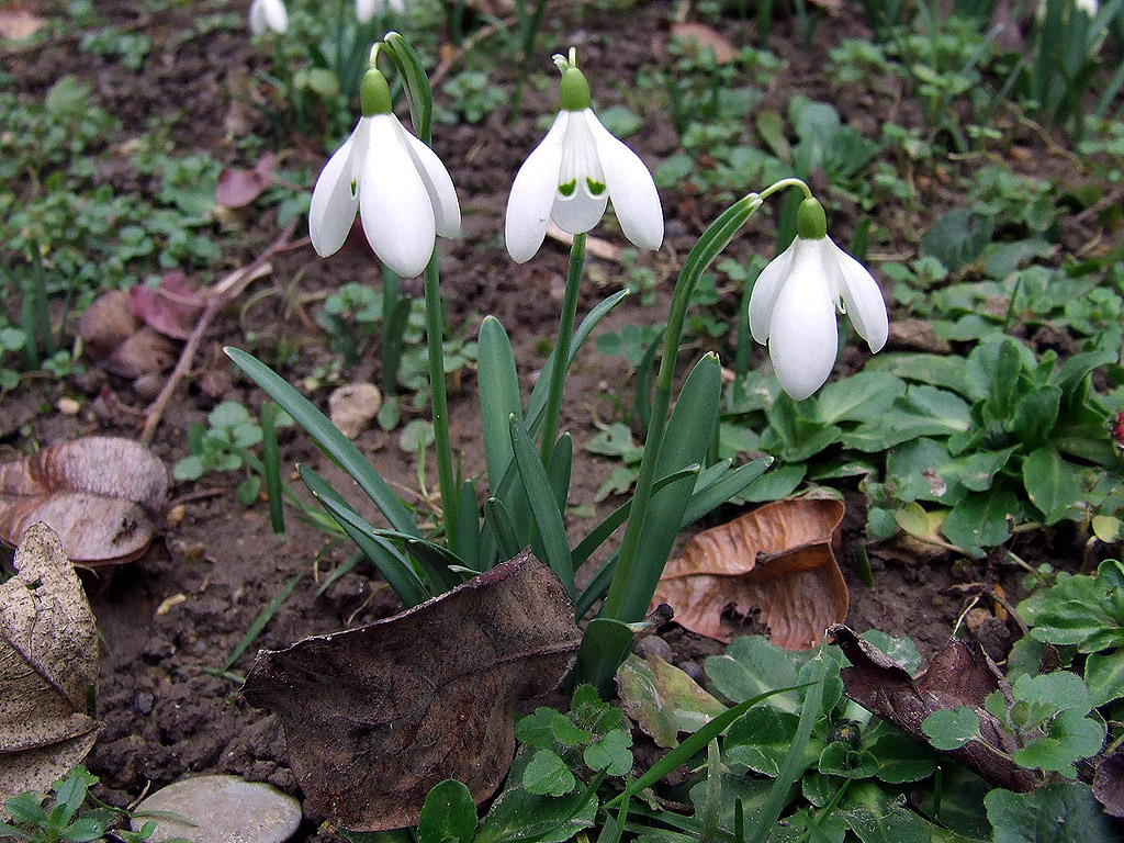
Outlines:
{"type": "Polygon", "coordinates": [[[35,524],[0,584],[0,805],[44,790],[93,746],[98,631],[58,537],[35,524]]]}

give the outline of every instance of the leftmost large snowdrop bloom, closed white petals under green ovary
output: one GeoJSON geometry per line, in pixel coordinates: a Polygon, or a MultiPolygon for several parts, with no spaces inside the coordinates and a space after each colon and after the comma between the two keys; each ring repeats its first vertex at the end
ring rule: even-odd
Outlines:
{"type": "Polygon", "coordinates": [[[321,257],[335,254],[360,215],[371,248],[404,278],[422,273],[435,236],[461,229],[456,190],[441,158],[408,133],[390,108],[387,79],[369,70],[363,116],[324,165],[312,190],[308,233],[321,257]]]}

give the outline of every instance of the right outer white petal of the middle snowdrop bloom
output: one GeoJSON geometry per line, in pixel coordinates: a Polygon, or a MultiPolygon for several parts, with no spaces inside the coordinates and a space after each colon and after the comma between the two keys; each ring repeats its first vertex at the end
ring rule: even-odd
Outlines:
{"type": "Polygon", "coordinates": [[[592,110],[586,109],[583,114],[625,237],[641,248],[659,248],[663,243],[663,207],[652,173],[636,153],[601,125],[592,110]]]}

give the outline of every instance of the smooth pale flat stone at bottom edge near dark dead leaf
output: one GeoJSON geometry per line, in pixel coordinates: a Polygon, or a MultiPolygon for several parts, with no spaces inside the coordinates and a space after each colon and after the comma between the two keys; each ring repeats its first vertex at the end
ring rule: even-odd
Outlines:
{"type": "Polygon", "coordinates": [[[149,819],[156,831],[148,843],[187,837],[197,843],[284,843],[300,825],[300,804],[291,796],[237,776],[199,776],[157,790],[137,806],[133,831],[149,819]],[[144,812],[170,812],[193,825],[144,812]]]}

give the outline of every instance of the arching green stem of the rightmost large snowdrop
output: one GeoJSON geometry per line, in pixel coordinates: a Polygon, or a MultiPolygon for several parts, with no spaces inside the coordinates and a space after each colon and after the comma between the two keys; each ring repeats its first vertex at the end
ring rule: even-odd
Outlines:
{"type": "MultiPolygon", "coordinates": [[[[786,179],[786,182],[804,184],[797,179],[786,179]]],[[[779,190],[781,182],[769,188],[765,194],[779,190]]],[[[785,184],[788,187],[788,184],[785,184]]],[[[668,424],[668,408],[671,406],[671,387],[676,374],[676,357],[679,355],[679,343],[683,333],[683,320],[687,317],[687,307],[690,305],[691,291],[707,266],[718,256],[738,229],[745,225],[750,216],[761,206],[761,197],[750,193],[734,202],[722,216],[716,219],[710,227],[695,244],[683,269],[679,273],[676,282],[676,290],[671,298],[671,312],[668,315],[668,327],[663,335],[663,359],[660,361],[660,373],[655,381],[655,396],[652,400],[652,416],[649,423],[647,442],[644,445],[644,457],[640,464],[640,477],[636,479],[636,491],[633,495],[632,506],[628,511],[628,522],[625,526],[625,535],[620,542],[620,553],[617,558],[617,566],[613,573],[613,582],[609,583],[609,591],[605,596],[601,606],[601,617],[615,618],[618,620],[633,622],[640,618],[624,618],[620,616],[625,596],[628,593],[646,593],[651,596],[655,591],[655,583],[663,572],[663,561],[659,568],[646,568],[638,575],[634,575],[634,563],[636,561],[636,550],[640,546],[641,534],[644,528],[644,513],[652,498],[652,486],[655,482],[655,468],[660,460],[660,446],[663,442],[663,432],[668,424]]],[[[647,599],[643,600],[647,605],[647,599]]]]}

